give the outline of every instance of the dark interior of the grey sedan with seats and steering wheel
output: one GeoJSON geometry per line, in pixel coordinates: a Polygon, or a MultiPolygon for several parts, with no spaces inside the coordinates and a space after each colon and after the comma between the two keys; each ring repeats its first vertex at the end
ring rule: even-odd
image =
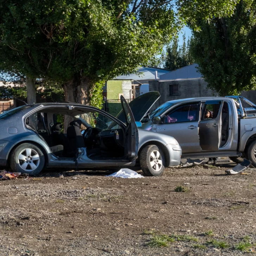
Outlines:
{"type": "Polygon", "coordinates": [[[100,113],[79,108],[46,108],[28,116],[25,123],[28,129],[43,137],[58,158],[76,158],[78,148],[86,148],[90,159],[124,157],[122,127],[100,113]],[[66,132],[64,116],[72,120],[66,132]]]}

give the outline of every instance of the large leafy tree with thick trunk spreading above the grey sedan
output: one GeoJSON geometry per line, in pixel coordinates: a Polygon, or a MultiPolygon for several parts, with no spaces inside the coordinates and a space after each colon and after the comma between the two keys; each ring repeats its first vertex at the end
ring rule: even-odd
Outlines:
{"type": "Polygon", "coordinates": [[[188,20],[232,13],[236,0],[0,0],[0,69],[64,85],[89,104],[98,82],[133,72],[188,20]],[[178,12],[173,11],[177,6],[178,12]]]}

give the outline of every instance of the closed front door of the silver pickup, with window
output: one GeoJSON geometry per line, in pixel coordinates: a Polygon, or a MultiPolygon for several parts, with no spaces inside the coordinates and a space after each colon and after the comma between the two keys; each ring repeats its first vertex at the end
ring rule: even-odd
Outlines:
{"type": "Polygon", "coordinates": [[[156,132],[173,136],[183,153],[200,152],[198,136],[199,102],[174,108],[165,116],[164,124],[156,125],[156,132]]]}

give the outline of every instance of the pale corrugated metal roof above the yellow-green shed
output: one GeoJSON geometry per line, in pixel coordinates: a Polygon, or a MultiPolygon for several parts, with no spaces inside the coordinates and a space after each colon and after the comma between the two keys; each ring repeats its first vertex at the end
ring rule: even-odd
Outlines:
{"type": "Polygon", "coordinates": [[[127,76],[117,76],[114,78],[119,80],[152,80],[155,79],[155,71],[158,73],[158,77],[164,75],[165,73],[170,72],[168,69],[160,69],[160,68],[139,68],[139,72],[142,72],[140,75],[129,74],[127,76]]]}

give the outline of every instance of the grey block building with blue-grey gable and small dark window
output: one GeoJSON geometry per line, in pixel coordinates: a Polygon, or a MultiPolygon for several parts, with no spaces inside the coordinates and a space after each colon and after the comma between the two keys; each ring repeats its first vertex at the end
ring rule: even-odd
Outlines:
{"type": "MultiPolygon", "coordinates": [[[[207,88],[197,66],[188,65],[160,75],[157,81],[149,81],[149,91],[159,91],[161,95],[154,107],[181,98],[216,96],[216,91],[207,88]]],[[[256,91],[242,91],[241,96],[256,103],[256,91]]]]}

